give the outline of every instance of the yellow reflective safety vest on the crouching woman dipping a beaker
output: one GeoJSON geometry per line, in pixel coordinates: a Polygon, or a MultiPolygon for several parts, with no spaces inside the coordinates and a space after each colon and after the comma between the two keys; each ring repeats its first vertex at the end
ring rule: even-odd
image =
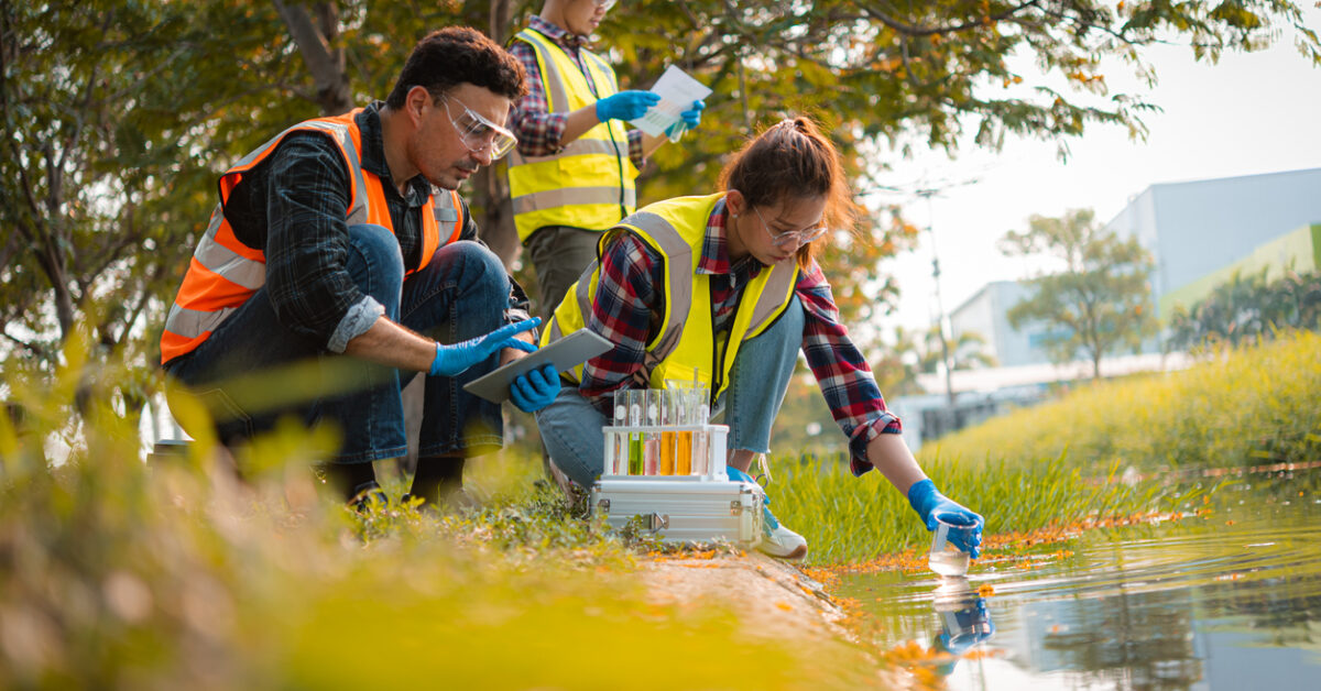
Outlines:
{"type": "MultiPolygon", "coordinates": [[[[664,262],[664,314],[660,329],[647,344],[647,354],[638,384],[666,388],[671,382],[695,379],[712,390],[712,400],[729,384],[729,371],[741,344],[765,332],[789,307],[798,283],[798,264],[790,258],[766,267],[738,299],[738,308],[728,334],[720,342],[712,333],[715,316],[711,304],[711,276],[697,273],[707,221],[724,194],[679,197],[646,206],[629,215],[601,238],[597,254],[618,233],[631,230],[664,262]]],[[[551,324],[542,334],[542,345],[584,328],[590,314],[600,262],[593,262],[555,309],[551,324]]],[[[567,377],[581,382],[583,369],[567,377]]]]}

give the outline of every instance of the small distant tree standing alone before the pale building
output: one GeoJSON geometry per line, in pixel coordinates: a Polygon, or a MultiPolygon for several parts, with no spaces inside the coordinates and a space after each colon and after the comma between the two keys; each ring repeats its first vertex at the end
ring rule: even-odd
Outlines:
{"type": "Polygon", "coordinates": [[[1120,240],[1094,217],[1090,209],[1062,218],[1034,215],[1026,233],[1009,231],[1000,248],[1063,260],[1062,272],[1030,280],[1032,296],[1009,309],[1009,324],[1048,325],[1044,346],[1050,359],[1069,362],[1082,351],[1091,359],[1092,378],[1100,379],[1102,355],[1125,345],[1136,353],[1143,338],[1156,333],[1147,281],[1155,264],[1136,238],[1120,240]]]}

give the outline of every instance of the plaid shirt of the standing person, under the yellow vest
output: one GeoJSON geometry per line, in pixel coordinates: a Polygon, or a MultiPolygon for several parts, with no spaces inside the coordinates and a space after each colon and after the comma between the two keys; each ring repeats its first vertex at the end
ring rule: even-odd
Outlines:
{"type": "MultiPolygon", "coordinates": [[[[572,34],[535,15],[527,26],[559,44],[573,58],[579,70],[587,74],[587,66],[583,65],[583,55],[579,53],[580,48],[587,48],[585,36],[572,34]]],[[[523,70],[527,71],[527,95],[519,99],[514,107],[514,124],[511,127],[514,136],[518,137],[518,152],[523,156],[553,156],[560,152],[560,139],[564,137],[564,123],[568,120],[568,114],[547,112],[550,106],[546,103],[546,83],[542,81],[542,70],[536,65],[536,50],[526,41],[513,41],[509,52],[523,63],[523,70]]],[[[588,86],[592,86],[590,79],[588,79],[588,86]]],[[[642,155],[641,129],[629,129],[629,159],[638,170],[646,163],[646,157],[642,155]]]]}

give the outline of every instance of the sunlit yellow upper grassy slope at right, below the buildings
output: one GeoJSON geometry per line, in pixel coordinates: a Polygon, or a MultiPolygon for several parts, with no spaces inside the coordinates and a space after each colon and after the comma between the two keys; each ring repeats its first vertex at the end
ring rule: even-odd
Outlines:
{"type": "Polygon", "coordinates": [[[1218,351],[1192,369],[1081,387],[923,447],[919,460],[1053,458],[1139,470],[1321,457],[1321,334],[1218,351]]]}

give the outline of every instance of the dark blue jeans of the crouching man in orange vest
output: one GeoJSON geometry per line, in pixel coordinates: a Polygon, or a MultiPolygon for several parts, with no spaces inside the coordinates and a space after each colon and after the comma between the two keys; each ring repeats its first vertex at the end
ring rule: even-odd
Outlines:
{"type": "MultiPolygon", "coordinates": [[[[392,321],[446,344],[482,336],[505,321],[509,275],[499,258],[474,242],[440,247],[424,270],[404,276],[392,233],[374,225],[350,226],[345,268],[392,321]]],[[[493,354],[453,378],[423,375],[419,456],[466,457],[501,447],[499,406],[462,388],[498,361],[499,354],[493,354]]],[[[289,330],[276,318],[264,287],[165,370],[172,382],[186,387],[186,392],[170,387],[170,398],[192,395],[206,406],[227,445],[295,416],[308,425],[338,427],[343,439],[338,453],[328,458],[333,462],[369,462],[408,451],[400,391],[417,373],[330,353],[324,344],[289,330]],[[288,373],[295,370],[305,377],[291,379],[288,373]],[[288,382],[299,391],[291,392],[288,382]]]]}

